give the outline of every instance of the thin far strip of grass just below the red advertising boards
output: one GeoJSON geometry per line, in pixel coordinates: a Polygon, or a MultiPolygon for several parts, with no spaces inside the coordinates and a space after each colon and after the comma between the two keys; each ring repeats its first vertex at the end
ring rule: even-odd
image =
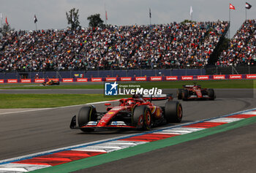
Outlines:
{"type": "MultiPolygon", "coordinates": [[[[256,80],[190,80],[190,81],[159,81],[159,82],[118,82],[119,84],[140,85],[143,88],[181,88],[182,85],[191,85],[193,82],[203,88],[256,88],[256,80]]],[[[39,84],[8,85],[1,84],[0,89],[103,89],[102,84],[93,85],[53,85],[42,86],[39,84]]]]}

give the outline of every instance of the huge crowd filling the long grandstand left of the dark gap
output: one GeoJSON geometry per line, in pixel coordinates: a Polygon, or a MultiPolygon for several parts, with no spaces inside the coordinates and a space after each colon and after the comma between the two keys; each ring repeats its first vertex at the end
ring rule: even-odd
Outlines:
{"type": "Polygon", "coordinates": [[[12,31],[0,40],[0,72],[203,67],[227,28],[217,21],[12,31]]]}

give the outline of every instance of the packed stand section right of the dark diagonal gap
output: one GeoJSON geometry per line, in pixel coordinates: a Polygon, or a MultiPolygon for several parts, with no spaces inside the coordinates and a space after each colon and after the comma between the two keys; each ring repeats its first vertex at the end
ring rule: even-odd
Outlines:
{"type": "Polygon", "coordinates": [[[246,20],[223,50],[217,66],[256,65],[256,20],[246,20]]]}

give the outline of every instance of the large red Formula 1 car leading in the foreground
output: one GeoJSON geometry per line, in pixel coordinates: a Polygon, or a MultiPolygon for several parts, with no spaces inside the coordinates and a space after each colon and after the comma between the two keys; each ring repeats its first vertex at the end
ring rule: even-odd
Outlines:
{"type": "Polygon", "coordinates": [[[84,106],[78,116],[72,118],[70,128],[85,132],[105,128],[148,130],[165,123],[179,123],[183,115],[182,107],[178,101],[172,99],[170,95],[150,98],[134,95],[129,99],[120,99],[116,107],[105,104],[106,112],[97,112],[93,105],[84,106]],[[151,102],[162,99],[167,99],[165,107],[156,106],[151,102]]]}

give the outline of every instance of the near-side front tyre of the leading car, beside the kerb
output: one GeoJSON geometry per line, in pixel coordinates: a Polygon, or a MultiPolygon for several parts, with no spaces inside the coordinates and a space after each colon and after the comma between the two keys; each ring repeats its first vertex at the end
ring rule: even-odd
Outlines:
{"type": "Polygon", "coordinates": [[[135,107],[132,112],[132,126],[138,130],[149,130],[151,128],[152,115],[147,106],[135,107]]]}

